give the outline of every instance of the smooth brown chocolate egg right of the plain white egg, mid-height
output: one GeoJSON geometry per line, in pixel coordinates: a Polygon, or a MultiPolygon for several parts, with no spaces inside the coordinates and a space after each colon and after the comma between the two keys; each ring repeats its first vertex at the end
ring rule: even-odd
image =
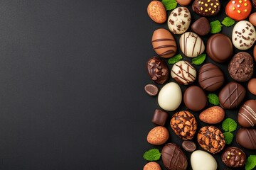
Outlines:
{"type": "Polygon", "coordinates": [[[203,89],[198,86],[190,86],[183,96],[184,103],[191,111],[201,111],[207,105],[207,97],[203,89]]]}

